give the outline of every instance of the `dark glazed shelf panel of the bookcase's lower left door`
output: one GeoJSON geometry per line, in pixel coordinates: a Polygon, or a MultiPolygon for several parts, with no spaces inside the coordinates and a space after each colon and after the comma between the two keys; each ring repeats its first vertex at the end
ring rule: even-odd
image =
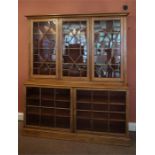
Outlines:
{"type": "Polygon", "coordinates": [[[70,89],[27,87],[26,125],[70,129],[70,101],[70,89]]]}

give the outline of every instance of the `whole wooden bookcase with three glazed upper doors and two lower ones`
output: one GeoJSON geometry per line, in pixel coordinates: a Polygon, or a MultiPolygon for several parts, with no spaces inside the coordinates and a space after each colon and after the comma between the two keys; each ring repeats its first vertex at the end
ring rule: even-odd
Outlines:
{"type": "Polygon", "coordinates": [[[127,13],[27,18],[24,133],[128,145],[127,13]]]}

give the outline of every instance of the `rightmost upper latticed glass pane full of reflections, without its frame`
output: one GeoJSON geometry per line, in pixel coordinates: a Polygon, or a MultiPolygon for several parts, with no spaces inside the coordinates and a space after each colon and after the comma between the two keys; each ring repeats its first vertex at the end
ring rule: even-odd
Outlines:
{"type": "Polygon", "coordinates": [[[120,20],[94,21],[94,50],[94,76],[96,78],[120,78],[120,20]]]}

